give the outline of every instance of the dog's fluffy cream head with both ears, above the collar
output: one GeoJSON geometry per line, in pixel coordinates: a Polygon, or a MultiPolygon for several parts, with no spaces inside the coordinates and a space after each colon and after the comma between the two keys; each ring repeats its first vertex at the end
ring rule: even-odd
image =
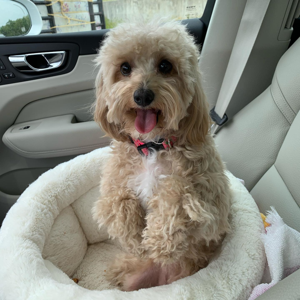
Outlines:
{"type": "Polygon", "coordinates": [[[171,135],[203,141],[209,116],[198,55],[180,23],[118,25],[97,57],[95,120],[122,141],[171,135]]]}

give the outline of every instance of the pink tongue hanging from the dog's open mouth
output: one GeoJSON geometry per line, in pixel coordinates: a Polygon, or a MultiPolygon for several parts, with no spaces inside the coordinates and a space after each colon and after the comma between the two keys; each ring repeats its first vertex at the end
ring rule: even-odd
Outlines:
{"type": "Polygon", "coordinates": [[[141,110],[137,108],[137,117],[134,121],[135,129],[139,133],[148,133],[156,125],[156,111],[154,109],[141,110]]]}

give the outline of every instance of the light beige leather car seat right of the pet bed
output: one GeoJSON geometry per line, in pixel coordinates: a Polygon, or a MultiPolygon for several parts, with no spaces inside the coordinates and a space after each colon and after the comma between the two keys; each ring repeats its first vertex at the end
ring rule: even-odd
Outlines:
{"type": "MultiPolygon", "coordinates": [[[[300,231],[300,39],[279,60],[272,84],[220,129],[227,169],[245,180],[261,212],[274,206],[300,231]]],[[[300,299],[300,270],[258,300],[300,299]]]]}

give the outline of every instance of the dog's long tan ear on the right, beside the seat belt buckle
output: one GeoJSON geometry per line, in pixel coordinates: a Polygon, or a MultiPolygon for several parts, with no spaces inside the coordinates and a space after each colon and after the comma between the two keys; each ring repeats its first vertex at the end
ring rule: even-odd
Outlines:
{"type": "Polygon", "coordinates": [[[181,120],[180,124],[181,144],[199,145],[205,142],[212,124],[208,103],[201,87],[201,75],[198,71],[196,73],[193,100],[187,109],[188,115],[181,120]]]}

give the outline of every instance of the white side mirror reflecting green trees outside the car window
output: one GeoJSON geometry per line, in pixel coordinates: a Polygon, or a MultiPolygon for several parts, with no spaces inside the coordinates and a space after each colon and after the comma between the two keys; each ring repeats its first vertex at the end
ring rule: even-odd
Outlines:
{"type": "Polygon", "coordinates": [[[42,17],[30,0],[0,0],[0,37],[41,33],[42,17]]]}

